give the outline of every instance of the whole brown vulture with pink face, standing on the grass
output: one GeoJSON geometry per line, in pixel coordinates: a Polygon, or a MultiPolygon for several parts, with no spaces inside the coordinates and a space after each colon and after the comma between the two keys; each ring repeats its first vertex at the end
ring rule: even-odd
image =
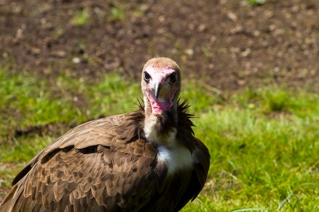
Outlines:
{"type": "Polygon", "coordinates": [[[154,57],[135,111],[79,125],[16,175],[0,212],[179,211],[207,179],[210,155],[195,137],[181,71],[154,57]]]}

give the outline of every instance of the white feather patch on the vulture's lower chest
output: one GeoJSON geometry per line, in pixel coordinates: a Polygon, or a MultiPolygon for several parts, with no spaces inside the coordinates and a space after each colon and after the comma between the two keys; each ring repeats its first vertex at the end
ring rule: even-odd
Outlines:
{"type": "Polygon", "coordinates": [[[164,162],[168,167],[168,174],[173,174],[178,169],[189,168],[194,163],[190,150],[184,146],[169,149],[158,146],[158,162],[164,162]]]}

